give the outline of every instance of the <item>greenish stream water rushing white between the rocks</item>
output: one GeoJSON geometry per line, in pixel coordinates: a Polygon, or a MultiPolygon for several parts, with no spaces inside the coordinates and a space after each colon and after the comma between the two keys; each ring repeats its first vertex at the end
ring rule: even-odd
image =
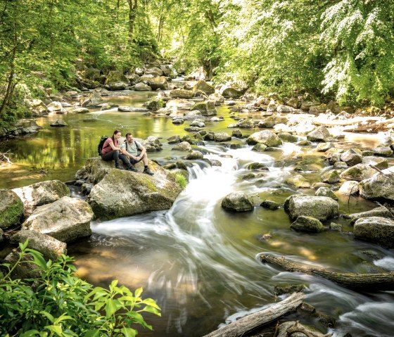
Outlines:
{"type": "MultiPolygon", "coordinates": [[[[152,95],[155,93],[130,91],[106,99],[141,106],[152,95]]],[[[207,123],[206,129],[229,132],[229,110],[220,108],[218,115],[224,117],[224,122],[207,123]]],[[[11,149],[13,161],[18,163],[0,170],[1,188],[45,179],[72,180],[84,161],[96,155],[101,134],[118,128],[123,134],[132,131],[140,138],[161,137],[163,151],[148,153],[149,157],[176,159],[181,155],[170,150],[166,138],[186,134],[184,127],[188,125],[185,122],[175,126],[165,117],[118,113],[116,109],[64,115],[69,127],[62,129],[49,127],[49,122],[56,119],[58,115],[39,119],[44,129],[38,134],[0,144],[1,148],[11,149]],[[94,122],[84,122],[89,119],[94,122]]],[[[347,135],[341,146],[361,144],[367,148],[378,141],[375,137],[347,135]]],[[[321,153],[294,144],[265,153],[255,153],[250,146],[230,149],[213,142],[201,148],[207,153],[205,158],[220,160],[222,166],[193,161],[190,182],[170,210],[93,222],[89,240],[68,245],[82,278],[101,286],[108,286],[112,279],[133,289],[142,286],[144,297],[158,302],[162,317],[146,314],[154,331],[141,329],[139,336],[203,336],[272,303],[274,286],[278,284],[304,284],[305,301],[337,319],[334,336],[347,332],[352,336],[393,336],[392,292],[356,293],[324,279],[284,272],[259,261],[260,253],[272,252],[339,272],[370,272],[374,267],[394,270],[393,250],[355,241],[345,219],[334,220],[343,225],[342,232],[304,234],[289,229],[291,222],[283,209],[259,206],[265,198],[283,203],[295,193],[284,184],[294,174],[294,165],[303,167],[310,181],[318,182],[320,170],[326,166],[321,153]],[[253,162],[266,163],[268,170],[244,179],[253,162]],[[232,191],[253,196],[253,212],[224,211],[222,198],[232,191]],[[271,237],[264,239],[265,234],[271,237]]],[[[342,197],[339,203],[341,212],[376,207],[362,198],[342,197]]],[[[312,318],[299,319],[324,331],[312,318]]]]}

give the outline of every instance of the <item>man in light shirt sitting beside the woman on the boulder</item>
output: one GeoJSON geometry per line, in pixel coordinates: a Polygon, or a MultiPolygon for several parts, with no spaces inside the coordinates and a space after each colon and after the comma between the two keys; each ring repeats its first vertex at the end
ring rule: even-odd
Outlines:
{"type": "Polygon", "coordinates": [[[141,160],[144,163],[143,173],[153,175],[153,172],[149,170],[148,167],[148,155],[146,155],[146,148],[139,143],[139,141],[134,141],[133,135],[129,132],[126,134],[126,140],[120,145],[120,150],[122,153],[119,158],[127,166],[127,170],[137,172],[134,164],[139,163],[141,160]],[[141,151],[138,155],[138,151],[141,151]]]}

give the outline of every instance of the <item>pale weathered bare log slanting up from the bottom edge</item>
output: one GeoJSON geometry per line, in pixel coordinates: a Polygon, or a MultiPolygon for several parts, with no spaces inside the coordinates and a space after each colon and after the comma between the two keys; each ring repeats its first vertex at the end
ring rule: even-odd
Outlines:
{"type": "Polygon", "coordinates": [[[285,300],[279,303],[275,303],[267,309],[255,312],[253,314],[248,314],[236,322],[232,322],[227,326],[223,326],[220,329],[212,331],[205,335],[204,337],[238,337],[242,336],[244,333],[251,331],[264,324],[269,324],[274,322],[281,316],[294,312],[303,303],[304,293],[293,293],[288,296],[285,300]]]}

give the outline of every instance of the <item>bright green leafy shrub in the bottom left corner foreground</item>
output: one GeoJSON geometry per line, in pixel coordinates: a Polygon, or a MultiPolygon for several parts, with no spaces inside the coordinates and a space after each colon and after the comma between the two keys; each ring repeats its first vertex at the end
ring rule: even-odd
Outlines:
{"type": "Polygon", "coordinates": [[[142,299],[142,288],[134,293],[113,281],[109,289],[93,287],[72,275],[75,267],[66,255],[57,262],[46,261],[42,254],[20,243],[15,265],[1,265],[1,336],[136,336],[135,324],[152,329],[142,312],[160,316],[151,298],[142,299]],[[26,260],[26,257],[31,257],[26,260]],[[39,277],[11,279],[19,265],[33,263],[39,277]]]}

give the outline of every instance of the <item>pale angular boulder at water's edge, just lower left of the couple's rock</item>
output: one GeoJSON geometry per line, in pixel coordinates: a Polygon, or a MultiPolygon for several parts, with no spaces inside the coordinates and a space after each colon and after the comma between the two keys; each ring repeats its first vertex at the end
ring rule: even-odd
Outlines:
{"type": "Polygon", "coordinates": [[[22,224],[23,230],[39,231],[63,242],[72,242],[90,236],[93,212],[86,201],[63,198],[39,206],[22,224]]]}

